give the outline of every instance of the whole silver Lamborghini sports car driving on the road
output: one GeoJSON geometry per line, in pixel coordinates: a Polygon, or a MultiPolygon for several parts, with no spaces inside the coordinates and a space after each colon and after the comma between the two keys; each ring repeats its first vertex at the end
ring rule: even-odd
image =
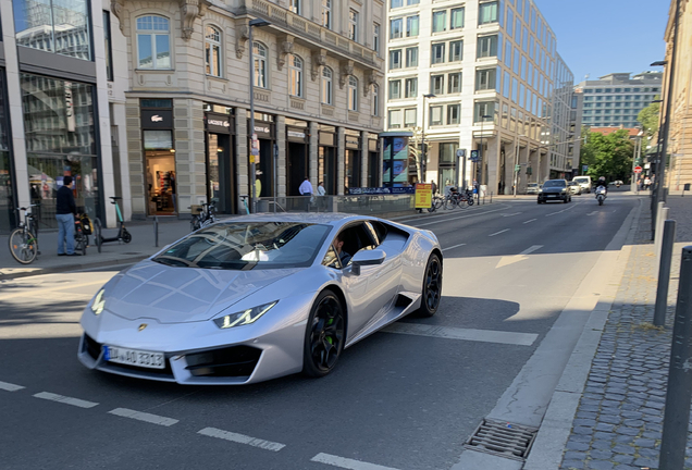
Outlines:
{"type": "Polygon", "coordinates": [[[181,384],[328,374],[345,347],[442,294],[430,231],[338,213],[203,227],[113,276],[87,305],[90,369],[181,384]]]}

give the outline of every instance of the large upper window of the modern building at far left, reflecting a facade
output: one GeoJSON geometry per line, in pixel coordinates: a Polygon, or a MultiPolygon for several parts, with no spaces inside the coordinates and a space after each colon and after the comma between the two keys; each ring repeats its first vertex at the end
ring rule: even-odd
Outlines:
{"type": "Polygon", "coordinates": [[[90,2],[14,0],[11,3],[17,46],[91,60],[90,2]]]}

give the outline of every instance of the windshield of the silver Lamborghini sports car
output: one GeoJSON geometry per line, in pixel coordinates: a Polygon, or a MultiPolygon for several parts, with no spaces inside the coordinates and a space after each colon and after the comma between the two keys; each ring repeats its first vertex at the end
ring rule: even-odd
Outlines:
{"type": "Polygon", "coordinates": [[[222,222],[153,258],[161,264],[247,271],[312,264],[331,227],[297,222],[222,222]]]}

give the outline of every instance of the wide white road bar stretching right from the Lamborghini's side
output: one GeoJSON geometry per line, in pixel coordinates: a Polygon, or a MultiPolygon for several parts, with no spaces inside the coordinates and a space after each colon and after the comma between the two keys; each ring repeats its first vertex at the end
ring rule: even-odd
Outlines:
{"type": "Polygon", "coordinates": [[[498,343],[517,346],[531,346],[539,337],[535,333],[515,333],[495,330],[460,329],[453,326],[434,326],[418,323],[392,323],[382,330],[385,333],[409,334],[415,336],[440,337],[446,339],[464,339],[481,343],[498,343]]]}

